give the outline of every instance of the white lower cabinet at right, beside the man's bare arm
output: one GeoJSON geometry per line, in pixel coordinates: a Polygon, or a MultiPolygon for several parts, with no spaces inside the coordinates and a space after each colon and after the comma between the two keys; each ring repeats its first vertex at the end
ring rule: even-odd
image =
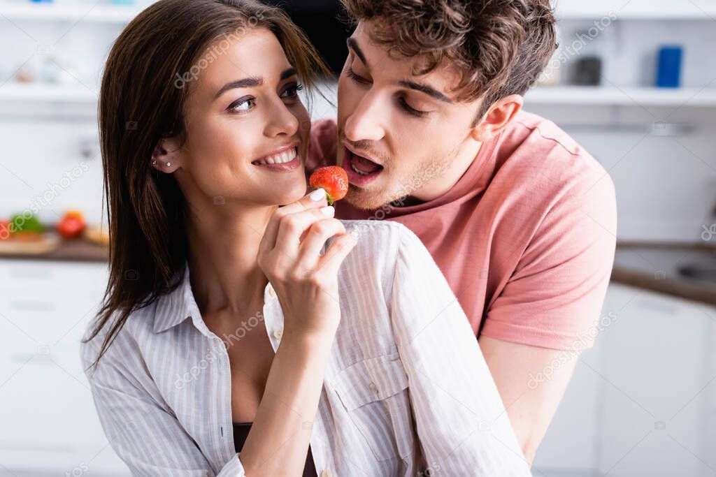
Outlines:
{"type": "Polygon", "coordinates": [[[716,473],[716,308],[611,284],[535,461],[548,475],[716,473]]]}

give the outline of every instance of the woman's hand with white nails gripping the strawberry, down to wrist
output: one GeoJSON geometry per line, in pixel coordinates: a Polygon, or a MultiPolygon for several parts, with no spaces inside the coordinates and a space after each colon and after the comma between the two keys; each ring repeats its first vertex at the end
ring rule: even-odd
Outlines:
{"type": "Polygon", "coordinates": [[[326,192],[317,189],[274,212],[258,249],[258,265],[279,297],[284,337],[329,335],[340,321],[338,270],[353,249],[354,237],[326,207],[326,192]],[[326,240],[340,236],[325,255],[326,240]]]}

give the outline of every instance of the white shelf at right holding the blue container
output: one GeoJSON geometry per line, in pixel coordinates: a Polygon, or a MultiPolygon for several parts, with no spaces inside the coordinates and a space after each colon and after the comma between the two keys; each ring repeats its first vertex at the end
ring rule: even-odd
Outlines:
{"type": "Polygon", "coordinates": [[[716,107],[716,88],[537,87],[526,94],[525,103],[716,107]]]}

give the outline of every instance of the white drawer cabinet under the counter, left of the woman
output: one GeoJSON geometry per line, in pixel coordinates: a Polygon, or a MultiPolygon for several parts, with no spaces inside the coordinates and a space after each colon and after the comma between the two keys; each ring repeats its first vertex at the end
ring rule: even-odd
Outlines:
{"type": "Polygon", "coordinates": [[[24,475],[127,476],[107,444],[79,340],[105,264],[0,260],[0,463],[24,475]]]}

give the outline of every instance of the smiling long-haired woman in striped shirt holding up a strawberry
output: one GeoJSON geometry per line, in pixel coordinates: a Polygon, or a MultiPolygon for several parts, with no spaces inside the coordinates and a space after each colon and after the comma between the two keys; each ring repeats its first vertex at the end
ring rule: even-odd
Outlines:
{"type": "Polygon", "coordinates": [[[146,476],[528,475],[417,237],[301,198],[321,65],[253,0],[159,1],[113,46],[110,283],[82,345],[112,447],[146,476]]]}

